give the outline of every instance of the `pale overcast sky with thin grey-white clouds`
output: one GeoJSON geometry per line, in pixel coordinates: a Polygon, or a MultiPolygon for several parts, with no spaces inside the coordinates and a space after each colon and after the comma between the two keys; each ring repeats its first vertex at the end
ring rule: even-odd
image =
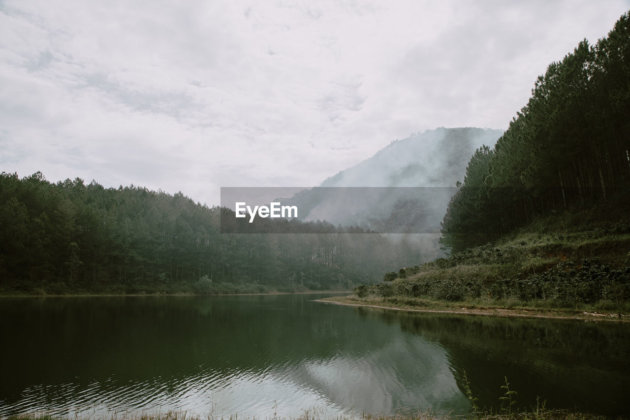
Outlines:
{"type": "Polygon", "coordinates": [[[0,0],[0,172],[319,185],[396,139],[507,129],[630,0],[0,0]]]}

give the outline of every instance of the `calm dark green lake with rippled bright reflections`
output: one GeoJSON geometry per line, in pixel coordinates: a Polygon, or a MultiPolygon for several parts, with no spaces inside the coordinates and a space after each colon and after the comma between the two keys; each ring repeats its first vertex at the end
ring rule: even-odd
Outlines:
{"type": "Polygon", "coordinates": [[[327,305],[321,295],[2,298],[0,416],[466,413],[504,376],[521,407],[630,414],[630,325],[327,305]]]}

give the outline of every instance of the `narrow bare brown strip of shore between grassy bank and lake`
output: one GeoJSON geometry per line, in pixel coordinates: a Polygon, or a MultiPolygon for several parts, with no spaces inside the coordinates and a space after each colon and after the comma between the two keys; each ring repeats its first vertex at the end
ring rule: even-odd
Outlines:
{"type": "MultiPolygon", "coordinates": [[[[341,299],[347,296],[338,296],[341,299]]],[[[580,320],[580,321],[612,321],[612,322],[630,322],[630,319],[623,319],[624,317],[629,317],[629,315],[621,314],[621,318],[617,314],[610,313],[597,313],[597,312],[583,312],[576,313],[575,315],[551,315],[548,312],[559,312],[562,309],[558,308],[557,310],[525,310],[525,309],[507,309],[507,308],[458,308],[457,310],[448,310],[448,309],[436,309],[436,308],[427,308],[427,309],[419,309],[419,308],[399,308],[396,306],[382,306],[382,305],[372,305],[369,302],[357,303],[357,301],[350,299],[343,300],[331,300],[331,298],[324,298],[314,300],[320,303],[329,303],[331,305],[343,305],[343,306],[358,306],[364,308],[375,308],[381,310],[396,310],[396,311],[404,311],[404,312],[427,312],[427,313],[451,313],[451,314],[459,314],[459,315],[484,315],[484,316],[493,316],[493,317],[522,317],[522,318],[549,318],[549,319],[567,319],[567,320],[580,320]]],[[[439,305],[439,303],[436,303],[439,305]]],[[[567,309],[568,310],[568,309],[567,309]]]]}

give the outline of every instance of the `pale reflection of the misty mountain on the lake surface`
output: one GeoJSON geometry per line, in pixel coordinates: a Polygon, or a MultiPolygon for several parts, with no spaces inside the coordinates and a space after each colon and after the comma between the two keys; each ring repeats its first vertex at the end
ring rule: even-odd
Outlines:
{"type": "Polygon", "coordinates": [[[466,412],[462,395],[442,347],[399,335],[386,346],[360,356],[312,361],[299,376],[341,407],[365,412],[395,412],[400,407],[466,412]]]}

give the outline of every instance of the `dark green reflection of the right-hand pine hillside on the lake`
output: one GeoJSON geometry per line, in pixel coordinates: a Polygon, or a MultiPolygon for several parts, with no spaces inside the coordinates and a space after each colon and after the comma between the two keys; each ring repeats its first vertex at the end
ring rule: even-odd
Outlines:
{"type": "Polygon", "coordinates": [[[500,408],[507,376],[520,407],[630,413],[630,325],[537,318],[397,313],[361,308],[363,317],[442,345],[459,388],[463,371],[481,407],[500,408]]]}

